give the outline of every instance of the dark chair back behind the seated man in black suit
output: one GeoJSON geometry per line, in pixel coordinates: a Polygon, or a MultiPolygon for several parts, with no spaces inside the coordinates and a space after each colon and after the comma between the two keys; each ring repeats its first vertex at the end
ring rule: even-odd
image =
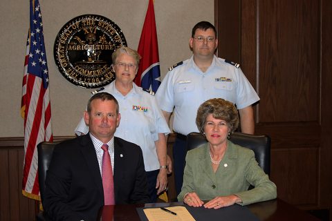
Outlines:
{"type": "Polygon", "coordinates": [[[53,150],[55,145],[59,142],[41,142],[37,145],[38,150],[38,181],[39,191],[42,202],[44,201],[45,193],[45,179],[48,166],[50,166],[50,160],[52,160],[53,150]]]}

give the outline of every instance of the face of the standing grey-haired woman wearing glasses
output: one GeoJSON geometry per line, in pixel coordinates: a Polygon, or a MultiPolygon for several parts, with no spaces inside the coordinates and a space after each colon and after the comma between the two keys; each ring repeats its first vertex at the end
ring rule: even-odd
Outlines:
{"type": "Polygon", "coordinates": [[[116,73],[116,80],[122,83],[132,83],[136,76],[138,66],[136,61],[130,55],[121,53],[113,64],[113,70],[116,73]]]}

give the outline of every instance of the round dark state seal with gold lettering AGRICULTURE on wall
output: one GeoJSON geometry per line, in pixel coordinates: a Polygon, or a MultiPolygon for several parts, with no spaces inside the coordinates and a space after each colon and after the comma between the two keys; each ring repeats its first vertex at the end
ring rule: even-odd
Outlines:
{"type": "Polygon", "coordinates": [[[121,46],[127,46],[127,41],[116,23],[100,15],[81,15],[57,34],[55,64],[76,86],[100,88],[115,79],[111,55],[121,46]]]}

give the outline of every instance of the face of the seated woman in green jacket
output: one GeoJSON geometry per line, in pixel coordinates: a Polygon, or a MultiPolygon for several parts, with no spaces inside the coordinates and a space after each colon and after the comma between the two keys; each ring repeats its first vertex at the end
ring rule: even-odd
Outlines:
{"type": "Polygon", "coordinates": [[[228,124],[224,120],[216,119],[212,114],[206,117],[204,133],[206,140],[208,140],[212,146],[218,146],[226,142],[229,131],[228,124]]]}

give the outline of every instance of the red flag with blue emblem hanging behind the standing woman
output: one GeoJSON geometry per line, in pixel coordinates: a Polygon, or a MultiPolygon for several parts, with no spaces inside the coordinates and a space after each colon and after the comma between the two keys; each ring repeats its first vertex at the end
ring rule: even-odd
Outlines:
{"type": "Polygon", "coordinates": [[[153,0],[149,0],[137,51],[142,59],[140,59],[135,83],[143,89],[153,90],[156,93],[160,85],[160,66],[153,0]]]}

